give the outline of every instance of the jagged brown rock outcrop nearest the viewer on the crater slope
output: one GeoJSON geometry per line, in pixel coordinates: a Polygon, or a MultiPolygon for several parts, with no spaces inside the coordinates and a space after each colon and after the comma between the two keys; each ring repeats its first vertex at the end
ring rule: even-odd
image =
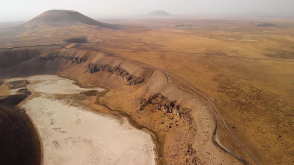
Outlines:
{"type": "Polygon", "coordinates": [[[176,100],[169,100],[168,97],[161,93],[156,93],[149,96],[148,99],[142,98],[140,103],[140,110],[144,110],[146,106],[154,105],[158,110],[162,110],[165,113],[174,113],[179,119],[185,121],[192,121],[190,108],[182,107],[176,100]]]}

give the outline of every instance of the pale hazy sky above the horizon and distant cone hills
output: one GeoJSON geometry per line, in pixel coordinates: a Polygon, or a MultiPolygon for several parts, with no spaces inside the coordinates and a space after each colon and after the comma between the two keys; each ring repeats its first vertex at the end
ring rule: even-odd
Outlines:
{"type": "Polygon", "coordinates": [[[29,20],[50,9],[77,10],[93,18],[171,14],[294,16],[294,0],[2,0],[0,21],[29,20]]]}

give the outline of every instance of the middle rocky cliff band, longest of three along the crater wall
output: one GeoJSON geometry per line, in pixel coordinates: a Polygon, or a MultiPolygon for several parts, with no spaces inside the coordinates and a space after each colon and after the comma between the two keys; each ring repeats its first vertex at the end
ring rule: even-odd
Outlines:
{"type": "Polygon", "coordinates": [[[145,81],[143,78],[131,75],[128,71],[120,67],[112,67],[108,64],[88,64],[88,70],[91,74],[99,71],[105,71],[118,75],[127,82],[127,85],[136,85],[145,81]]]}

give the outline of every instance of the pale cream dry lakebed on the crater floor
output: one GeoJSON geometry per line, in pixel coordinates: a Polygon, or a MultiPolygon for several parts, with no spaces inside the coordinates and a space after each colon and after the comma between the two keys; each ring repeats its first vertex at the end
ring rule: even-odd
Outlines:
{"type": "Polygon", "coordinates": [[[50,97],[53,93],[74,94],[91,89],[57,76],[27,80],[37,82],[30,85],[31,90],[42,92],[21,107],[27,110],[40,134],[44,165],[155,164],[150,135],[132,127],[126,119],[119,121],[50,97]]]}

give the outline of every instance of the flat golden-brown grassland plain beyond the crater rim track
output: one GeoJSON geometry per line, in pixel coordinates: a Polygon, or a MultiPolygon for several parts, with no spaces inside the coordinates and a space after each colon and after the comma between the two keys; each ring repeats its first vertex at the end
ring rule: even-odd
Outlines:
{"type": "MultiPolygon", "coordinates": [[[[141,27],[35,28],[1,43],[3,47],[54,44],[86,35],[91,44],[81,48],[102,48],[162,69],[205,93],[259,163],[294,164],[294,22],[277,21],[279,28],[233,20],[127,23],[141,27]]],[[[224,146],[235,147],[225,131],[219,136],[224,146]]]]}

